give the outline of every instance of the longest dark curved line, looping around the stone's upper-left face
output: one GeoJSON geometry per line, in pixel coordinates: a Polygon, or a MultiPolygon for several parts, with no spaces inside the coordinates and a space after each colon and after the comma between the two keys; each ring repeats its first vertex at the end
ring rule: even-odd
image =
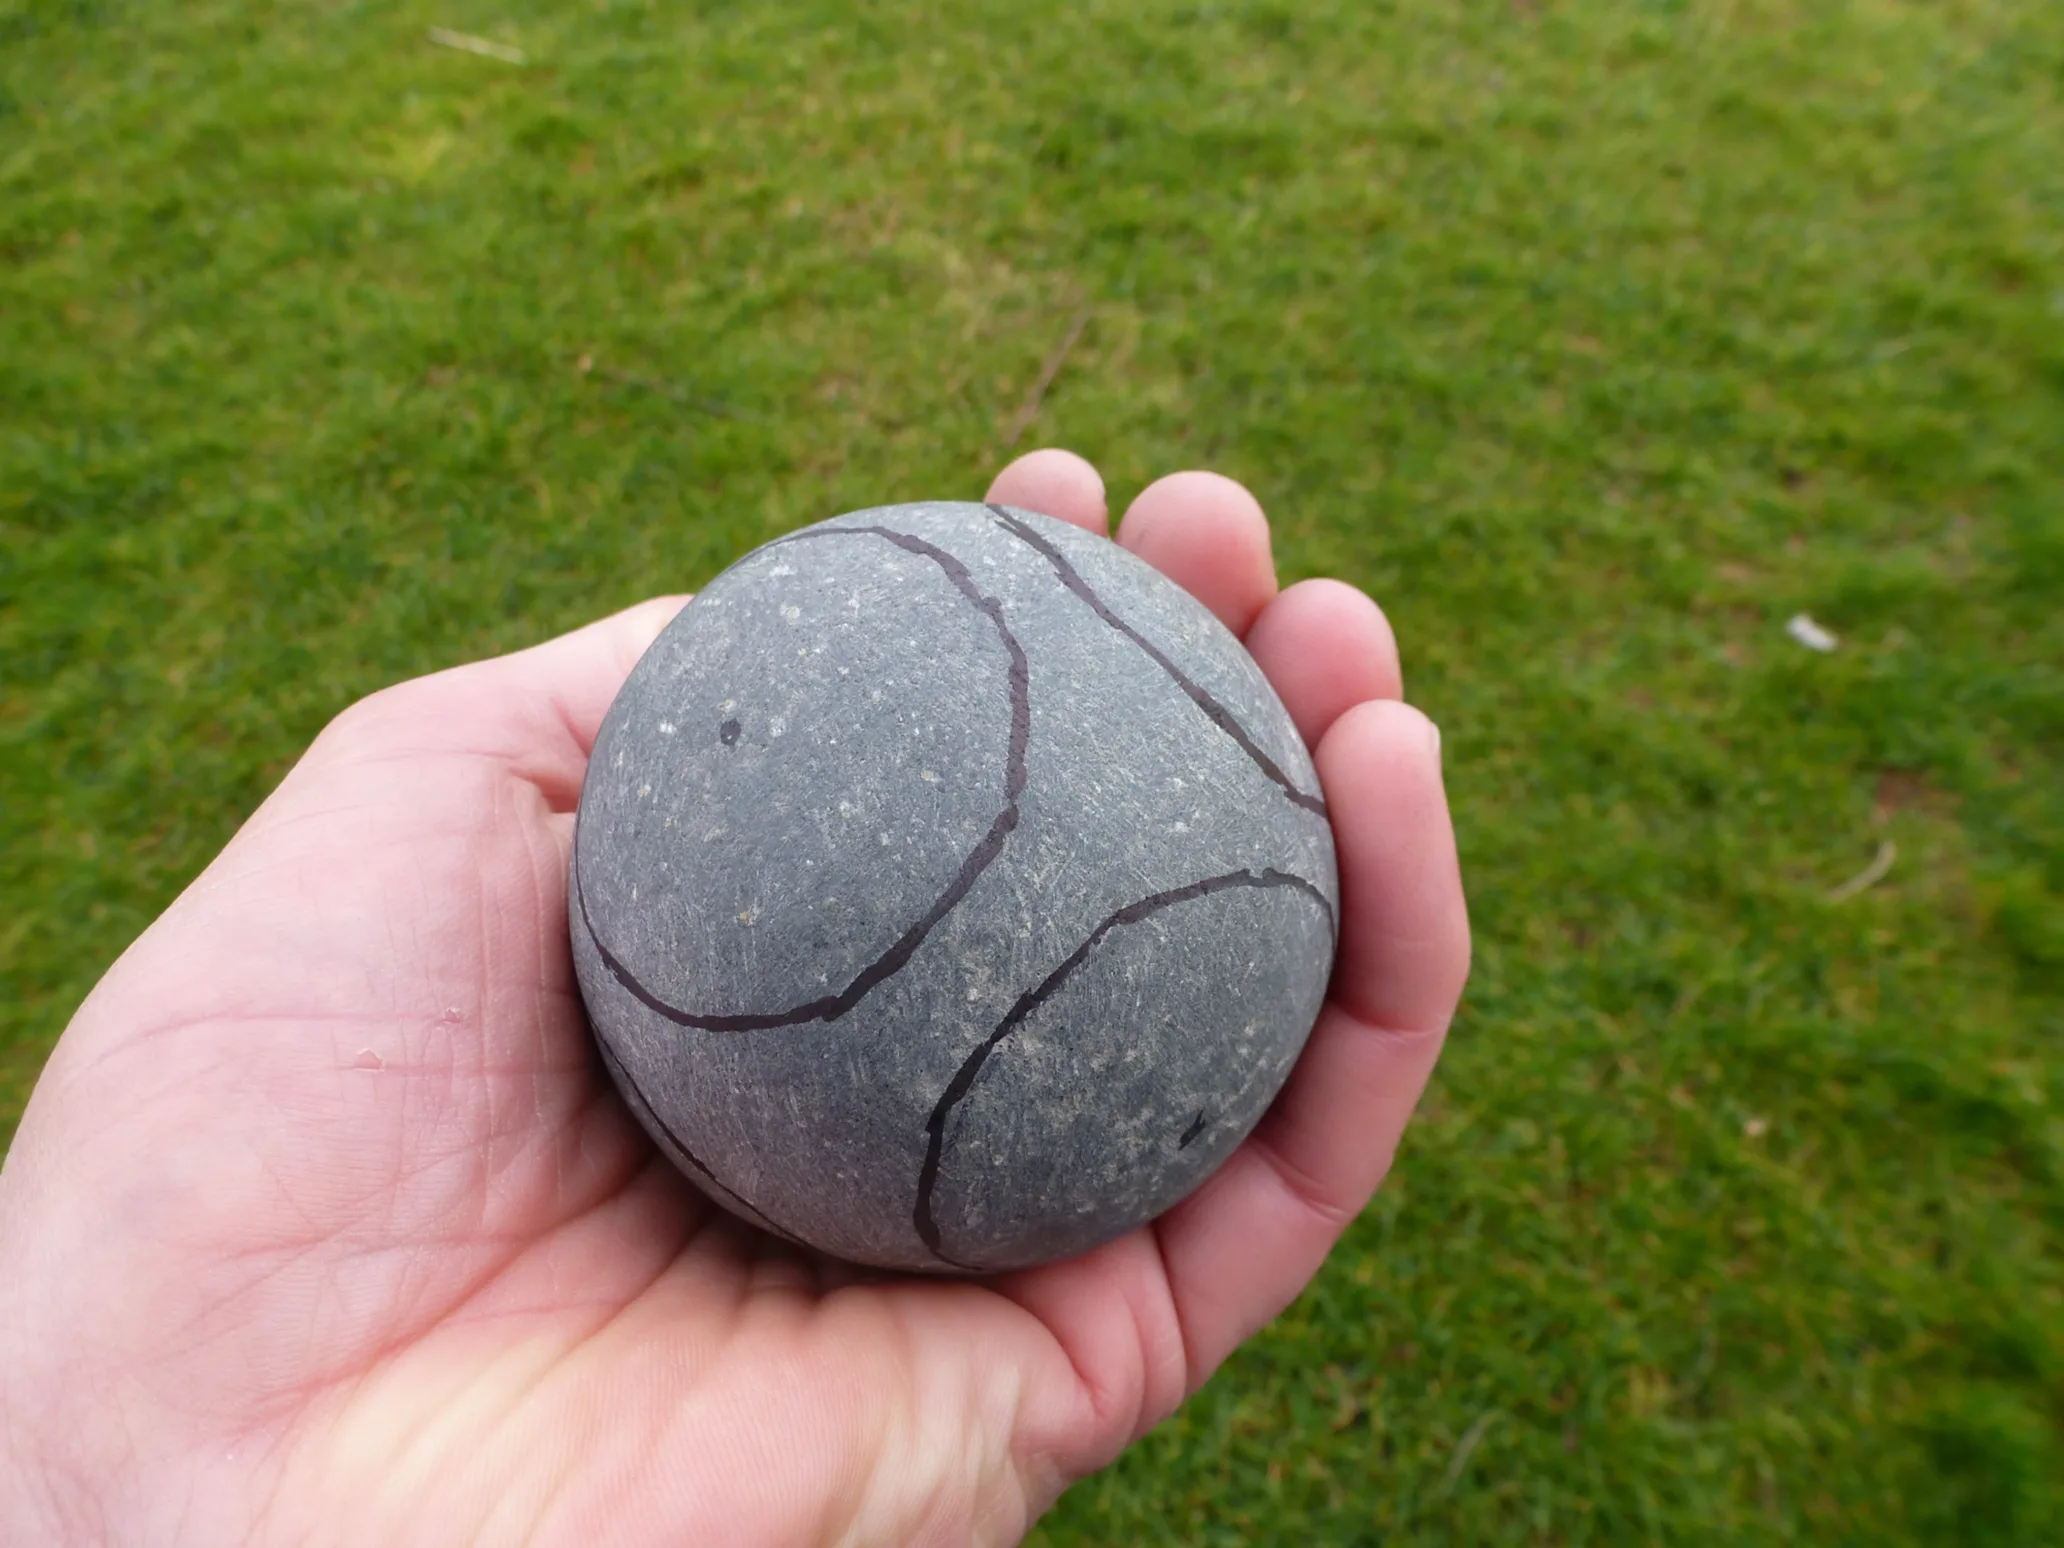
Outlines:
{"type": "Polygon", "coordinates": [[[982,596],[982,590],[974,584],[974,576],[968,572],[968,566],[945,549],[935,547],[921,537],[890,530],[888,526],[809,528],[803,533],[791,533],[780,541],[799,543],[803,539],[844,537],[846,533],[885,539],[898,549],[908,549],[910,553],[918,553],[937,563],[945,572],[945,578],[954,582],[954,588],[974,605],[976,613],[995,625],[997,638],[1003,640],[1003,648],[1011,658],[1011,745],[1003,764],[1003,811],[999,811],[997,819],[989,824],[989,832],[982,834],[982,842],[968,850],[968,859],[960,863],[960,871],[954,875],[952,883],[947,883],[945,892],[939,894],[937,902],[933,902],[933,906],[925,912],[925,916],[906,929],[888,952],[869,962],[850,985],[840,989],[836,995],[813,999],[807,1005],[760,1015],[704,1015],[700,1011],[683,1011],[677,1005],[669,1005],[638,982],[636,974],[632,974],[632,970],[625,968],[607,945],[603,945],[603,937],[594,931],[594,921],[588,918],[588,898],[586,890],[580,885],[580,857],[576,846],[574,900],[580,906],[580,923],[586,927],[588,939],[594,941],[594,949],[601,954],[603,966],[609,968],[609,974],[623,985],[623,989],[630,991],[640,1005],[656,1015],[665,1015],[675,1026],[691,1026],[702,1032],[764,1032],[776,1026],[801,1026],[803,1022],[836,1022],[840,1015],[859,1005],[883,978],[898,972],[912,956],[916,956],[925,937],[931,935],[939,921],[954,912],[960,900],[968,896],[982,871],[987,871],[995,863],[997,854],[1003,852],[1003,840],[1018,828],[1018,803],[1026,793],[1026,745],[1032,739],[1032,667],[1026,660],[1024,646],[1018,644],[1018,636],[1011,634],[1009,625],[1003,621],[1003,603],[995,596],[982,596]]]}

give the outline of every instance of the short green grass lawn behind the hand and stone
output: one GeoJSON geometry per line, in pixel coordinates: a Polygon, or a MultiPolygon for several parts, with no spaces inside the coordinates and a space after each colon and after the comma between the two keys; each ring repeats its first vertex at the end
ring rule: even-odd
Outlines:
{"type": "Polygon", "coordinates": [[[1383,599],[1480,954],[1038,1540],[2060,1540],[2060,99],[2054,0],[0,0],[0,1133],[353,696],[976,495],[1088,305],[1030,440],[1383,599]]]}

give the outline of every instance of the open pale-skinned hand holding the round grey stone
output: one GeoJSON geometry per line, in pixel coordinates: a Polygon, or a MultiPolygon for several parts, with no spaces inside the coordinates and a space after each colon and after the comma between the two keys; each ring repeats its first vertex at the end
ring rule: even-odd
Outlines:
{"type": "MultiPolygon", "coordinates": [[[[1106,530],[1067,452],[989,499],[1106,530]]],[[[1148,1228],[989,1282],[714,1210],[588,1046],[566,861],[681,599],[347,710],[66,1028],[0,1172],[0,1540],[1009,1544],[1311,1280],[1432,1071],[1470,935],[1383,613],[1278,590],[1228,479],[1117,541],[1313,747],[1342,937],[1290,1084],[1148,1228]]]]}

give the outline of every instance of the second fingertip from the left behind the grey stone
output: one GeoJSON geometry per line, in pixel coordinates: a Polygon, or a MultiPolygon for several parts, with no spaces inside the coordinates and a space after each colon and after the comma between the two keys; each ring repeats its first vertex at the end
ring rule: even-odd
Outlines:
{"type": "Polygon", "coordinates": [[[1119,522],[1119,545],[1181,584],[1238,636],[1276,596],[1269,518],[1222,473],[1156,479],[1119,522]]]}

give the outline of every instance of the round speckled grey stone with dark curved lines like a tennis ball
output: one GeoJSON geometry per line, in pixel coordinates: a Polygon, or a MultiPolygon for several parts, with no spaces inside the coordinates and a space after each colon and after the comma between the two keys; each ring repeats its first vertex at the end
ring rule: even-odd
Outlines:
{"type": "Polygon", "coordinates": [[[625,1100],[739,1216],[1005,1269],[1152,1220],[1247,1135],[1325,995],[1311,760],[1240,644],[1032,512],[755,549],[611,706],[572,937],[625,1100]]]}

